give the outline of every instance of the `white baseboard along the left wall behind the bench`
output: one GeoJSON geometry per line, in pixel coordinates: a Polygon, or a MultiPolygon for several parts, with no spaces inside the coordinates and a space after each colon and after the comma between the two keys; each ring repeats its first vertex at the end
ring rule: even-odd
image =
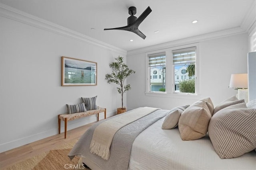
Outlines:
{"type": "MultiPolygon", "coordinates": [[[[107,117],[111,117],[115,114],[116,114],[115,111],[107,113],[107,117]]],[[[75,121],[70,121],[70,122],[68,122],[67,130],[75,129],[77,127],[95,122],[95,121],[97,121],[96,117],[97,117],[97,115],[92,115],[92,116],[84,117],[82,119],[78,119],[75,121]]],[[[101,119],[104,119],[104,114],[100,114],[99,120],[101,120],[101,119]]],[[[44,139],[44,138],[47,138],[47,137],[50,137],[53,135],[57,135],[58,134],[58,126],[57,125],[58,125],[58,122],[56,121],[56,128],[50,129],[48,131],[40,132],[40,133],[37,133],[34,135],[30,135],[30,136],[27,136],[27,137],[24,137],[21,139],[17,139],[14,141],[10,141],[8,143],[3,143],[0,145],[0,152],[2,153],[7,150],[26,145],[28,143],[32,143],[32,142],[35,142],[35,141],[38,141],[38,140],[41,140],[41,139],[44,139]]],[[[61,133],[64,132],[64,121],[61,121],[61,131],[60,132],[61,133]]]]}

